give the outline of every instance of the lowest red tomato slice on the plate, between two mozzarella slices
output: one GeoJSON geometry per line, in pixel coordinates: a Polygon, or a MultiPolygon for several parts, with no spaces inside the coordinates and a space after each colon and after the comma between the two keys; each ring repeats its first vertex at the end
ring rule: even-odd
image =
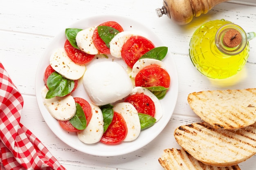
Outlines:
{"type": "Polygon", "coordinates": [[[127,135],[127,126],[120,113],[114,112],[113,120],[101,137],[103,144],[118,144],[127,135]]]}

